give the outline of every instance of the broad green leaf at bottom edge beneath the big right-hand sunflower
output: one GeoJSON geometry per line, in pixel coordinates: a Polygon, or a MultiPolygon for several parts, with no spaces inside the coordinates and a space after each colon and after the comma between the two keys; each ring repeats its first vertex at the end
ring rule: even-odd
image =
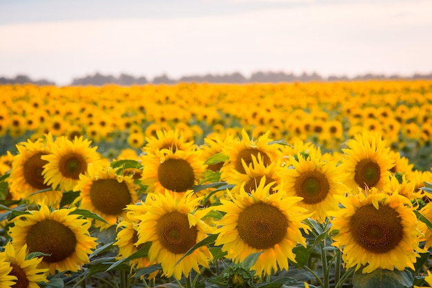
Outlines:
{"type": "Polygon", "coordinates": [[[353,275],[353,288],[409,288],[413,286],[414,276],[408,271],[376,269],[372,273],[357,270],[353,275]]]}

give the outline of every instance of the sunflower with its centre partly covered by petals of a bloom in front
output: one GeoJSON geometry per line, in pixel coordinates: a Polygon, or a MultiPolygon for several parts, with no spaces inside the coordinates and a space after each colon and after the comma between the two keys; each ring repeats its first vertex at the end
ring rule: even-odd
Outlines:
{"type": "Polygon", "coordinates": [[[270,144],[271,139],[268,139],[267,131],[261,135],[257,140],[251,140],[245,130],[242,131],[242,140],[232,140],[228,145],[224,146],[222,151],[228,155],[228,161],[220,169],[222,179],[230,182],[230,173],[235,169],[239,173],[246,173],[242,160],[246,166],[252,164],[252,155],[261,157],[265,166],[270,165],[273,161],[278,160],[280,157],[279,145],[270,144]]]}

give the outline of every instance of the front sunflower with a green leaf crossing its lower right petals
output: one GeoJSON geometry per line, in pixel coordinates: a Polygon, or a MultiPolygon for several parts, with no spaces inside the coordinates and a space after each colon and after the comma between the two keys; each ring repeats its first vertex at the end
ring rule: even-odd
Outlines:
{"type": "Polygon", "coordinates": [[[199,265],[208,268],[208,262],[213,259],[208,247],[199,247],[186,256],[179,264],[176,263],[197,242],[212,233],[201,218],[208,209],[197,210],[202,198],[194,198],[188,191],[183,198],[177,200],[169,191],[149,195],[146,202],[139,207],[144,211],[136,218],[138,226],[138,241],[135,245],[152,242],[148,251],[150,262],[160,262],[164,275],[180,279],[181,275],[188,277],[191,269],[199,272],[199,265]]]}

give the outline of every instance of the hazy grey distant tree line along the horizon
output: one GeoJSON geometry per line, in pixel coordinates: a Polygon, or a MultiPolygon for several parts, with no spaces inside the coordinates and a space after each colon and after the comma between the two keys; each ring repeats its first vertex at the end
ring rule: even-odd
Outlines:
{"type": "MultiPolygon", "coordinates": [[[[355,81],[355,80],[380,80],[380,79],[432,79],[432,73],[428,74],[414,74],[411,77],[401,77],[399,75],[382,75],[382,74],[364,74],[355,77],[346,76],[329,76],[322,77],[317,73],[302,73],[301,75],[294,75],[293,73],[283,72],[256,72],[251,77],[244,77],[240,73],[231,73],[223,75],[192,75],[184,76],[179,79],[171,79],[167,75],[160,75],[154,77],[149,81],[146,77],[134,77],[132,75],[121,74],[119,77],[112,75],[102,75],[95,73],[95,75],[88,75],[83,78],[73,79],[71,86],[81,85],[95,85],[101,86],[105,84],[118,84],[122,86],[130,86],[133,84],[175,84],[178,82],[208,82],[208,83],[277,83],[277,82],[307,82],[307,81],[355,81]]],[[[55,82],[41,79],[34,81],[26,75],[18,75],[14,79],[0,77],[0,84],[37,84],[37,85],[55,85],[55,82]]]]}

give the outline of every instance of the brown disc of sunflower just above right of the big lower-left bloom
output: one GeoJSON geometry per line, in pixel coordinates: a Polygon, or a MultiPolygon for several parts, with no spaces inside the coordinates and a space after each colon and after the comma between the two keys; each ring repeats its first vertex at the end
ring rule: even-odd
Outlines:
{"type": "Polygon", "coordinates": [[[119,215],[130,204],[132,198],[125,182],[115,179],[99,179],[90,187],[93,206],[107,215],[119,215]]]}

